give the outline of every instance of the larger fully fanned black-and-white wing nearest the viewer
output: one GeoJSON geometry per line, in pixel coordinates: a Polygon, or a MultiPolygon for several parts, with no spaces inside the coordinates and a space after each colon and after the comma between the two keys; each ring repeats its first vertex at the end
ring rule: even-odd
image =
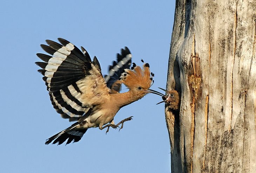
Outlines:
{"type": "Polygon", "coordinates": [[[62,118],[78,120],[90,107],[99,104],[99,96],[108,95],[109,89],[101,74],[99,61],[90,59],[82,47],[81,52],[75,45],[58,38],[59,43],[46,40],[49,45],[41,45],[50,55],[38,53],[45,62],[36,62],[38,70],[49,91],[53,107],[62,118]]]}

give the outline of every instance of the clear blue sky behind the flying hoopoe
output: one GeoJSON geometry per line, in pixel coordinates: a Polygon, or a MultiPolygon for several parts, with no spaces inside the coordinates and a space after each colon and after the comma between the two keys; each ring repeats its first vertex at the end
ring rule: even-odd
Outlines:
{"type": "Polygon", "coordinates": [[[120,132],[91,128],[78,143],[45,145],[72,123],[55,112],[34,62],[40,44],[61,37],[96,55],[106,74],[127,46],[133,62],[150,64],[151,89],[165,88],[174,8],[167,0],[1,2],[0,172],[170,172],[164,105],[153,94],[117,113],[116,123],[134,116],[120,132]]]}

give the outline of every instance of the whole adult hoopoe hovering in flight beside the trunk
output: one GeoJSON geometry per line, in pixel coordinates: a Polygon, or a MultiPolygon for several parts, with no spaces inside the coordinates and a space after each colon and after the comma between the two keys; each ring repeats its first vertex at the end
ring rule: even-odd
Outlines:
{"type": "Polygon", "coordinates": [[[66,140],[66,144],[78,142],[91,127],[101,130],[107,127],[107,132],[109,127],[117,128],[122,124],[122,128],[132,116],[115,125],[114,116],[121,107],[147,93],[159,95],[149,89],[154,74],[150,75],[148,63],[144,63],[143,68],[133,63],[129,69],[132,55],[127,47],[117,54],[117,61],[109,67],[109,75],[103,78],[96,57],[92,61],[85,48],[81,47],[81,52],[67,40],[58,40],[62,45],[51,40],[46,40],[49,46],[41,45],[52,56],[38,53],[37,56],[45,62],[36,62],[36,65],[42,68],[38,71],[44,76],[53,107],[62,118],[77,122],[50,137],[45,144],[53,140],[53,144],[62,144],[66,140]],[[119,93],[122,83],[129,88],[128,92],[119,93]]]}

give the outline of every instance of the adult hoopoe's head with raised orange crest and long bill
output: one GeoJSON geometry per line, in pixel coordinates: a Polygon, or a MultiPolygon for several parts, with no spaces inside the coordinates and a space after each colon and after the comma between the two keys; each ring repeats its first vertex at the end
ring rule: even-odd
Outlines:
{"type": "MultiPolygon", "coordinates": [[[[141,60],[143,62],[143,60],[141,60]]],[[[147,93],[154,93],[160,95],[157,91],[149,89],[154,83],[154,73],[150,73],[149,64],[144,63],[142,68],[133,63],[131,69],[124,69],[121,74],[121,82],[129,88],[134,97],[141,99],[147,93]]]]}

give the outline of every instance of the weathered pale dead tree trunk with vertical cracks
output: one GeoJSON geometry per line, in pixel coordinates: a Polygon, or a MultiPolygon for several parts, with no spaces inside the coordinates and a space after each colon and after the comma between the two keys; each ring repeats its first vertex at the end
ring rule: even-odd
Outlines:
{"type": "Polygon", "coordinates": [[[256,0],[176,0],[171,172],[256,172],[256,0]]]}

